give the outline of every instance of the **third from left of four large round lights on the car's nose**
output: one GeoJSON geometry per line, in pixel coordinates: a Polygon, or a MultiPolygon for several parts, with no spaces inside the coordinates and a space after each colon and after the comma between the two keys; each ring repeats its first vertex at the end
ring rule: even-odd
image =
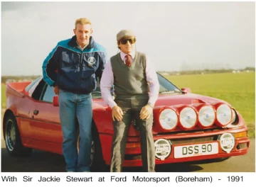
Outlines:
{"type": "Polygon", "coordinates": [[[203,127],[210,127],[215,121],[215,112],[210,106],[203,106],[198,112],[198,120],[203,127]]]}

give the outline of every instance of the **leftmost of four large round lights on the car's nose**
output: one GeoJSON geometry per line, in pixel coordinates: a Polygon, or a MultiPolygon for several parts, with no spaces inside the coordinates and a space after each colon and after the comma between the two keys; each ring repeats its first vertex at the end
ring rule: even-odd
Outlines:
{"type": "Polygon", "coordinates": [[[165,109],[160,114],[160,124],[166,130],[172,130],[178,123],[178,116],[172,109],[165,109]]]}

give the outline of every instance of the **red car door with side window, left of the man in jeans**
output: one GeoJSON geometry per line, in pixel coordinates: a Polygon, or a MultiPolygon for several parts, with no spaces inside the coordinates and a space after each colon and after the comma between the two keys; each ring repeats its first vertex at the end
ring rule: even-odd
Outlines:
{"type": "MultiPolygon", "coordinates": [[[[43,80],[42,80],[43,81],[43,80]]],[[[43,81],[44,82],[44,81],[43,81]]],[[[63,141],[58,106],[53,106],[53,87],[44,82],[41,96],[31,106],[31,138],[61,144],[63,141]]],[[[48,144],[45,144],[48,145],[48,144]]]]}

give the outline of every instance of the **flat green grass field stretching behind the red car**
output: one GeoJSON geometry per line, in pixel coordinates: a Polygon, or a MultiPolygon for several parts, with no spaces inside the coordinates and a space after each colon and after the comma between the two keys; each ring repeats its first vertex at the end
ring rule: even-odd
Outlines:
{"type": "MultiPolygon", "coordinates": [[[[194,94],[220,98],[241,113],[255,137],[255,72],[240,74],[198,74],[167,76],[178,88],[188,87],[194,94]]],[[[1,86],[1,107],[5,108],[5,86],[1,86]]]]}

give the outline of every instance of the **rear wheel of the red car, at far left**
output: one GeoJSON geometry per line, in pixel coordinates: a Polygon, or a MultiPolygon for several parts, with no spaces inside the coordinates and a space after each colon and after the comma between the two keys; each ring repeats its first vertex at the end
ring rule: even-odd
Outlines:
{"type": "Polygon", "coordinates": [[[30,156],[33,149],[23,147],[21,135],[14,115],[9,115],[5,120],[5,142],[7,152],[14,157],[30,156]]]}

